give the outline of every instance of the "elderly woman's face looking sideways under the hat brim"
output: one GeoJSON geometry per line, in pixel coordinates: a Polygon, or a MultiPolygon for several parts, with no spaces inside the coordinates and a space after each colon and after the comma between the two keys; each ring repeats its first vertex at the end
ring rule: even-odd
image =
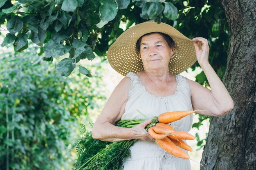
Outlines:
{"type": "Polygon", "coordinates": [[[145,70],[168,70],[168,63],[174,49],[170,48],[162,35],[145,35],[140,43],[140,55],[145,70]]]}

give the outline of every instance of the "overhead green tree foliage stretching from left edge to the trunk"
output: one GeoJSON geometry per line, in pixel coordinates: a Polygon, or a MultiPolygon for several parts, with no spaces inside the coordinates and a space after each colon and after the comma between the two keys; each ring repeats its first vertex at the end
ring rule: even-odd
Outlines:
{"type": "MultiPolygon", "coordinates": [[[[210,63],[221,78],[225,72],[229,29],[216,1],[18,0],[11,4],[4,0],[0,7],[0,24],[7,22],[9,31],[2,46],[14,42],[16,51],[22,51],[27,48],[27,39],[31,39],[43,46],[44,57],[58,58],[69,53],[69,59],[63,59],[58,66],[65,76],[80,60],[93,60],[92,51],[105,56],[109,45],[124,32],[119,27],[121,22],[128,28],[145,20],[166,22],[189,38],[207,38],[210,63]]],[[[198,64],[192,68],[195,66],[198,64]]],[[[79,71],[88,73],[82,66],[79,71]]],[[[201,84],[206,81],[203,73],[197,79],[201,84]]]]}

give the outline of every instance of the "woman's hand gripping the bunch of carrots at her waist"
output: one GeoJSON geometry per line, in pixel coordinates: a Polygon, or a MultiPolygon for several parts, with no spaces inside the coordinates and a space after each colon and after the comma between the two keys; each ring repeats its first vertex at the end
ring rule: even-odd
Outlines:
{"type": "Polygon", "coordinates": [[[152,122],[152,119],[148,119],[134,127],[131,128],[131,130],[133,131],[132,134],[134,134],[134,136],[132,137],[133,139],[140,139],[140,140],[152,140],[155,141],[155,139],[153,137],[151,137],[148,132],[145,130],[145,127],[150,124],[152,122]]]}

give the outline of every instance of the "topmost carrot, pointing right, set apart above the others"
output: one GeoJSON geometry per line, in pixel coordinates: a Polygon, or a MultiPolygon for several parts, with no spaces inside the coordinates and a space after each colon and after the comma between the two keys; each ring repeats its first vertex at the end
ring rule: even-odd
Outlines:
{"type": "Polygon", "coordinates": [[[161,115],[159,115],[158,117],[158,121],[160,123],[164,123],[164,124],[168,124],[171,123],[173,121],[176,120],[180,120],[183,117],[190,115],[192,113],[195,113],[197,110],[193,110],[193,111],[175,111],[175,112],[166,112],[166,113],[162,113],[161,115]]]}

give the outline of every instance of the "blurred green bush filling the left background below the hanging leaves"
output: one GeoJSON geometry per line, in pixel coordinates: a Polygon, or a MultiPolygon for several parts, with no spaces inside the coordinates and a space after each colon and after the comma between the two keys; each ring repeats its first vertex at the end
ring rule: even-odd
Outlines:
{"type": "Polygon", "coordinates": [[[0,169],[69,169],[77,118],[101,97],[84,75],[61,77],[56,64],[35,62],[37,50],[30,45],[22,55],[10,49],[0,55],[0,169]]]}

